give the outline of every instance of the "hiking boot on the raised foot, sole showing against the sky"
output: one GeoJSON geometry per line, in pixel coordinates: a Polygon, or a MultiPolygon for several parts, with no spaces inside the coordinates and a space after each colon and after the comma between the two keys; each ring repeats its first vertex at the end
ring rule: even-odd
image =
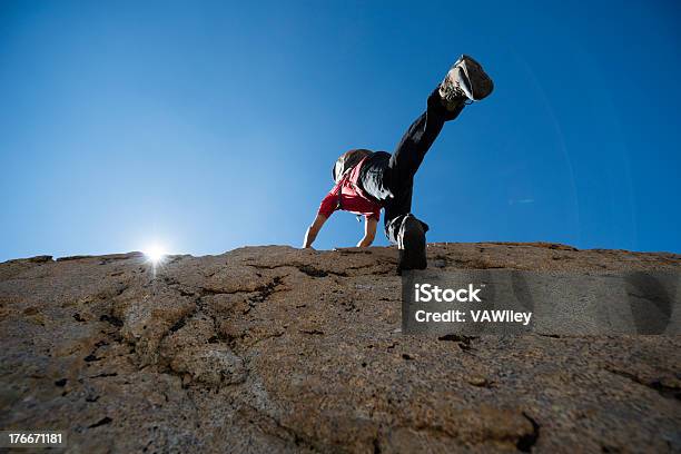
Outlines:
{"type": "Polygon", "coordinates": [[[447,110],[458,108],[466,100],[480,101],[490,96],[494,82],[471,57],[463,55],[450,69],[442,83],[440,97],[447,110]]]}

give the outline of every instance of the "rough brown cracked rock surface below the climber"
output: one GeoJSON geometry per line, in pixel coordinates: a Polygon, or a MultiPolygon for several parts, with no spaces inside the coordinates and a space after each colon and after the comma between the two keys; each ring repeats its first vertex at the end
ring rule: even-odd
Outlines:
{"type": "MultiPolygon", "coordinates": [[[[681,256],[433,244],[442,268],[681,256]]],[[[389,248],[0,264],[0,428],[69,452],[679,452],[681,336],[403,336],[389,248]]]]}

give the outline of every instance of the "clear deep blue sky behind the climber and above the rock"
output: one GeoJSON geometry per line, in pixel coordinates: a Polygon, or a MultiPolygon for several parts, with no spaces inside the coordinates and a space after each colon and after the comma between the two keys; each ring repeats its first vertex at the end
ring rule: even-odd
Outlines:
{"type": "Polygon", "coordinates": [[[496,87],[416,177],[428,241],[681,253],[678,3],[245,3],[0,2],[0,260],[299,246],[462,52],[496,87]]]}

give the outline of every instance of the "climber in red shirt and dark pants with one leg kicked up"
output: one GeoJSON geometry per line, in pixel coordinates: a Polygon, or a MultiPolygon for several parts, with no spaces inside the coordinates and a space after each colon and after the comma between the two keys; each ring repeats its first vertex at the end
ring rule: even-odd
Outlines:
{"type": "Polygon", "coordinates": [[[409,126],[392,155],[357,149],[338,158],[333,169],[335,185],[307,228],[303,247],[312,247],[337,209],[365,217],[364,236],[357,246],[367,247],[376,236],[383,208],[385,235],[399,251],[397,272],[425,269],[428,226],[412,214],[414,175],[444,124],[458,117],[466,105],[486,98],[493,88],[482,66],[463,55],[428,96],[425,112],[409,126]]]}

